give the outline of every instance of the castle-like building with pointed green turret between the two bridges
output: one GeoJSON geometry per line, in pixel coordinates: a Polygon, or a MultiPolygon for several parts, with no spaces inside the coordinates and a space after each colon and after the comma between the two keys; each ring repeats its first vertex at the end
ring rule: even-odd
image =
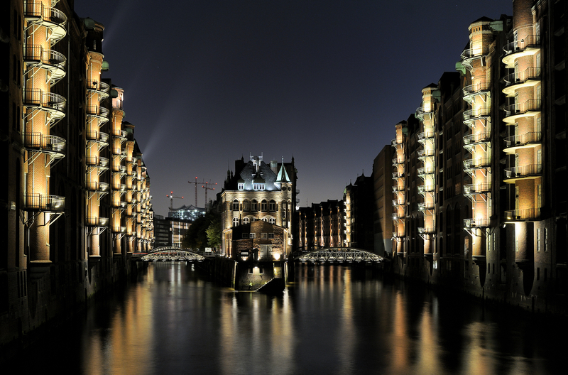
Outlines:
{"type": "MultiPolygon", "coordinates": [[[[291,163],[271,161],[270,165],[263,161],[262,156],[251,156],[247,163],[244,158],[235,161],[235,173],[227,171],[224,188],[219,195],[223,254],[239,258],[240,251],[249,246],[250,241],[244,245],[242,233],[245,232],[239,229],[238,232],[242,232],[239,237],[236,227],[248,226],[260,220],[267,222],[273,229],[261,232],[260,238],[256,237],[254,231],[246,232],[253,239],[250,246],[261,250],[266,258],[270,258],[268,254],[272,254],[274,259],[288,257],[293,241],[296,174],[294,158],[291,163]],[[269,233],[273,233],[275,237],[269,239],[269,233]],[[270,241],[261,241],[266,239],[270,241]]],[[[253,229],[256,227],[258,225],[252,226],[253,229]]]]}

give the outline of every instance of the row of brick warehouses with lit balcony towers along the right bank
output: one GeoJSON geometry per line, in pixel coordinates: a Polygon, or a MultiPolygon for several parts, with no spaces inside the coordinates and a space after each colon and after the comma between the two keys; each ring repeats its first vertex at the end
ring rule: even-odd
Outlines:
{"type": "Polygon", "coordinates": [[[457,72],[396,125],[395,273],[565,312],[566,11],[515,0],[471,23],[457,72]]]}

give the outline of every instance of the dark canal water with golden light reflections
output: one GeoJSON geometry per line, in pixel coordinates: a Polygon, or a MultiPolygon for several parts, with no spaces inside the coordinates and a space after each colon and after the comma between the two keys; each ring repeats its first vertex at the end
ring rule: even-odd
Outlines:
{"type": "Polygon", "coordinates": [[[14,359],[20,374],[566,374],[549,319],[297,265],[277,296],[235,292],[185,263],[149,263],[14,359]]]}

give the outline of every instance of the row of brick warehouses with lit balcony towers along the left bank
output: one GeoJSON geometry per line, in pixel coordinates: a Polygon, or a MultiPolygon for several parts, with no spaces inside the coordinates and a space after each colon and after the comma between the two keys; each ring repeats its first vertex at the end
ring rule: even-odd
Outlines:
{"type": "Polygon", "coordinates": [[[141,153],[132,131],[130,154],[128,142],[114,133],[121,126],[115,110],[121,109],[121,90],[102,78],[108,67],[104,27],[77,17],[72,4],[11,0],[0,6],[1,30],[9,38],[1,52],[8,74],[0,82],[3,344],[130,273],[136,266],[127,254],[149,249],[153,239],[141,153]],[[117,145],[124,175],[132,173],[140,192],[131,248],[122,198],[130,188],[113,174],[117,145]]]}

